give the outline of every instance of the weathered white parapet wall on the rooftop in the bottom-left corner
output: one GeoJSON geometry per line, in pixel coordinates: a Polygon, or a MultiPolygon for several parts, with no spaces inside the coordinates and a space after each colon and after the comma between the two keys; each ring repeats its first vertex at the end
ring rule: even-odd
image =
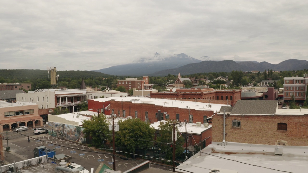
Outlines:
{"type": "MultiPolygon", "coordinates": [[[[17,171],[18,169],[22,169],[24,167],[30,167],[30,166],[34,166],[34,165],[37,165],[37,164],[40,164],[40,163],[46,163],[46,162],[48,162],[46,155],[40,156],[40,157],[35,157],[33,159],[24,160],[24,161],[21,161],[21,162],[16,162],[15,163],[15,171],[17,171]]],[[[11,165],[14,165],[14,163],[2,166],[2,172],[9,171],[9,166],[11,166],[11,165]]]]}

